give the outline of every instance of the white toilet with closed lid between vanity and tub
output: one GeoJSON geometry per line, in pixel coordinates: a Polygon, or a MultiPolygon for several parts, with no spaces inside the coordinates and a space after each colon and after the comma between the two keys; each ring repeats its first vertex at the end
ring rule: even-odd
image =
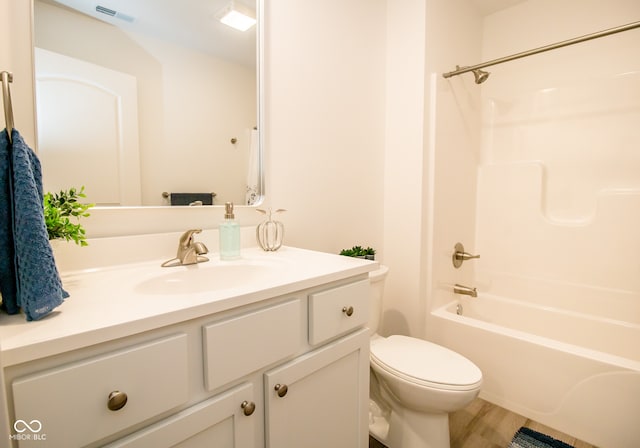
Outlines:
{"type": "Polygon", "coordinates": [[[369,274],[372,303],[369,433],[389,448],[449,448],[449,412],[480,392],[482,372],[431,342],[377,334],[388,268],[369,274]]]}

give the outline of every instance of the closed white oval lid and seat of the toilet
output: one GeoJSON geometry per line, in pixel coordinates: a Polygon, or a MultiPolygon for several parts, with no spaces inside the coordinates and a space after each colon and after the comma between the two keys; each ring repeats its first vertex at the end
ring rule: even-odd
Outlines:
{"type": "Polygon", "coordinates": [[[378,366],[409,381],[444,388],[478,386],[482,372],[464,356],[423,339],[394,335],[371,344],[378,366]]]}

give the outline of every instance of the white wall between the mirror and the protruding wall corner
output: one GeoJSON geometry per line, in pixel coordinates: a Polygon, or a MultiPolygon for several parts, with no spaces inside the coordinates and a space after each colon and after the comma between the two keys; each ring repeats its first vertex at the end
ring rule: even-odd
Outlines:
{"type": "Polygon", "coordinates": [[[385,1],[269,2],[267,198],[286,244],[384,259],[385,1]]]}

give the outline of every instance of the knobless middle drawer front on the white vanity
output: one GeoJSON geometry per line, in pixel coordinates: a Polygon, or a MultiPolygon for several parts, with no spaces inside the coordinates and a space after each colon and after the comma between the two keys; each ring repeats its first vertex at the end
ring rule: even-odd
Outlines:
{"type": "Polygon", "coordinates": [[[299,299],[204,327],[205,387],[214,390],[300,350],[299,299]]]}

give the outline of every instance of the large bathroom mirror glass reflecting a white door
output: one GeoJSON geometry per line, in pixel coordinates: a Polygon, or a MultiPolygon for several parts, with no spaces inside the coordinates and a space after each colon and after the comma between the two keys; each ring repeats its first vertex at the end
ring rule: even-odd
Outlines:
{"type": "Polygon", "coordinates": [[[218,16],[258,16],[261,0],[33,2],[45,191],[84,186],[110,207],[260,200],[259,27],[218,16]]]}

